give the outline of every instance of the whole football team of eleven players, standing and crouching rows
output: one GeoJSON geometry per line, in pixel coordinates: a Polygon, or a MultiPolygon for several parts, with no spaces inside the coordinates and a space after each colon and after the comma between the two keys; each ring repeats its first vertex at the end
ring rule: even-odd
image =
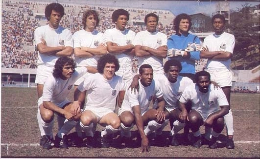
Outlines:
{"type": "Polygon", "coordinates": [[[115,28],[104,34],[95,30],[99,22],[95,10],[83,13],[84,29],[73,35],[59,26],[64,15],[61,4],[47,5],[45,15],[48,24],[38,27],[34,34],[39,56],[37,119],[43,148],[52,148],[53,141],[57,147],[68,148],[66,136],[73,127],[81,141],[84,130],[86,146],[92,147],[97,123],[105,126],[101,146],[109,147],[110,134],[120,129],[120,137],[127,142],[135,123],[141,151],[145,152],[149,149],[147,135],[155,131],[159,137],[168,122],[171,145],[179,145],[176,134],[184,127],[185,135],[192,131],[191,144],[200,147],[199,127],[205,125],[209,147],[217,148],[216,139],[226,124],[226,147],[235,147],[229,70],[235,38],[224,31],[222,15],[213,16],[215,33],[205,38],[203,46],[197,36],[189,34],[191,20],[187,14],[174,19],[176,34],[169,39],[156,30],[159,18],[153,13],[145,16],[147,29],[137,34],[125,28],[129,13],[124,9],[113,12],[115,28]],[[73,51],[75,61],[68,58],[73,51]],[[136,76],[132,71],[134,55],[140,64],[140,75],[136,76]],[[208,59],[207,72],[195,74],[195,60],[200,58],[208,59]],[[211,81],[221,89],[213,89],[211,81]],[[72,103],[67,97],[73,85],[72,103]],[[134,91],[127,89],[129,85],[134,91]],[[151,101],[153,109],[148,109],[151,101]],[[114,112],[117,102],[118,114],[114,112]],[[54,113],[58,114],[55,140],[54,113]]]}

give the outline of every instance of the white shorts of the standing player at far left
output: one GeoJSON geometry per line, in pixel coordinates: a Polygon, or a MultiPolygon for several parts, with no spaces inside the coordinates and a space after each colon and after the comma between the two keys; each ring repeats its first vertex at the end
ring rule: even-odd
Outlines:
{"type": "Polygon", "coordinates": [[[49,67],[49,66],[45,66],[45,65],[39,65],[37,67],[35,83],[37,83],[37,84],[44,84],[46,79],[49,76],[52,76],[53,69],[54,69],[54,67],[49,67]]]}

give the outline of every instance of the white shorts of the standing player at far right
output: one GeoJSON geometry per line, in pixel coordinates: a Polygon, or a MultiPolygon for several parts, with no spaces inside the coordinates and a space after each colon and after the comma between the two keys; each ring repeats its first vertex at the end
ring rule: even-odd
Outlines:
{"type": "Polygon", "coordinates": [[[232,72],[229,69],[207,69],[211,74],[211,80],[220,87],[232,86],[232,72]]]}

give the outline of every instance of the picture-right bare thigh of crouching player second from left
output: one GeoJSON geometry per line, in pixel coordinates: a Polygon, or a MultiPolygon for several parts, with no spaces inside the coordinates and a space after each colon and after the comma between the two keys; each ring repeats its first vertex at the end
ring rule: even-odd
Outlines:
{"type": "Polygon", "coordinates": [[[118,115],[114,112],[110,112],[104,115],[100,120],[99,124],[102,126],[111,125],[113,128],[118,129],[121,122],[118,115]]]}

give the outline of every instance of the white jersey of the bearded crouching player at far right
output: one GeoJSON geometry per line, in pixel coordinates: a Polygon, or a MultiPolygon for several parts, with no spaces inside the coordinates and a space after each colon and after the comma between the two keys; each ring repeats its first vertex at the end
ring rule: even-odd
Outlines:
{"type": "Polygon", "coordinates": [[[180,102],[191,101],[191,109],[197,110],[204,118],[209,114],[219,110],[219,106],[229,105],[228,100],[221,88],[214,89],[214,85],[209,86],[207,93],[199,91],[196,83],[187,86],[180,98],[180,102]]]}

